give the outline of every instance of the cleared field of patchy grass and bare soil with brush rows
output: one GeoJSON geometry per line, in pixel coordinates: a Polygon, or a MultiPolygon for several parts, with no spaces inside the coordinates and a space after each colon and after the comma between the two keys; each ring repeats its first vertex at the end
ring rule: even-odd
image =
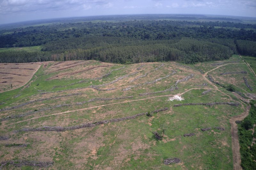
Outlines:
{"type": "MultiPolygon", "coordinates": [[[[2,81],[39,63],[13,65],[23,70],[2,81]]],[[[241,161],[235,121],[248,115],[255,85],[238,55],[195,65],[42,62],[26,85],[0,93],[0,166],[233,169],[241,161]]]]}

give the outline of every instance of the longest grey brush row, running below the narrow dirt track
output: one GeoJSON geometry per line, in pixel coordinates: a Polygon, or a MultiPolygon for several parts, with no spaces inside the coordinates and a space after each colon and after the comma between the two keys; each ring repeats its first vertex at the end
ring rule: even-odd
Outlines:
{"type": "MultiPolygon", "coordinates": [[[[164,107],[158,110],[154,110],[154,113],[158,113],[161,111],[165,111],[168,110],[168,107],[164,107]]],[[[66,131],[66,130],[75,130],[75,129],[81,129],[81,128],[89,128],[89,127],[94,127],[100,124],[106,124],[109,122],[121,122],[124,120],[128,120],[128,119],[135,119],[136,117],[142,116],[142,115],[146,115],[148,112],[144,112],[144,113],[139,113],[133,116],[127,116],[127,117],[122,117],[122,118],[116,118],[116,119],[110,119],[110,120],[103,120],[100,122],[95,122],[95,123],[85,123],[85,124],[81,124],[81,125],[76,125],[76,126],[68,126],[68,127],[61,127],[61,126],[44,126],[43,128],[23,128],[20,130],[16,130],[15,132],[20,132],[20,131],[66,131]]]]}

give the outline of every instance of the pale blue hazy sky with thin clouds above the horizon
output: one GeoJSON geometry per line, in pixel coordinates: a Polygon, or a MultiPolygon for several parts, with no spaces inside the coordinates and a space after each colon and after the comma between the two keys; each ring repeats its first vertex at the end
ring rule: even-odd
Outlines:
{"type": "Polygon", "coordinates": [[[116,14],[214,14],[256,17],[256,0],[0,0],[0,24],[116,14]]]}

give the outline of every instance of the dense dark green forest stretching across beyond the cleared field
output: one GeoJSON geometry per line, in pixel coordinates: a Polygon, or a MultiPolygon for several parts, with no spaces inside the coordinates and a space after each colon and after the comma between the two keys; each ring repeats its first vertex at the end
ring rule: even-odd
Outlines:
{"type": "Polygon", "coordinates": [[[40,52],[3,51],[0,62],[100,60],[112,63],[228,59],[255,56],[256,25],[233,22],[130,20],[73,22],[0,31],[0,47],[42,46],[40,52]]]}

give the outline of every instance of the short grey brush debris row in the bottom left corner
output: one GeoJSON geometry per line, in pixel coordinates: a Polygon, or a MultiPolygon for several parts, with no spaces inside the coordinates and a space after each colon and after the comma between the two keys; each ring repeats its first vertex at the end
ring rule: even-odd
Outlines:
{"type": "Polygon", "coordinates": [[[28,160],[11,160],[11,161],[6,161],[6,162],[2,162],[0,169],[2,167],[4,167],[5,165],[13,165],[13,166],[17,166],[17,167],[21,167],[21,166],[39,166],[39,167],[48,167],[48,166],[52,166],[54,164],[54,162],[41,162],[41,161],[28,161],[28,160]]]}

